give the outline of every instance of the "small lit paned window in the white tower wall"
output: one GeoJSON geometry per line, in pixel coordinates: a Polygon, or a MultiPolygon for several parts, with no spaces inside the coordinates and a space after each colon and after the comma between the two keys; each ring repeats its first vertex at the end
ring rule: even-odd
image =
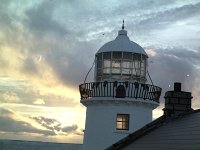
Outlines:
{"type": "Polygon", "coordinates": [[[117,114],[117,130],[129,130],[129,116],[129,114],[117,114]]]}

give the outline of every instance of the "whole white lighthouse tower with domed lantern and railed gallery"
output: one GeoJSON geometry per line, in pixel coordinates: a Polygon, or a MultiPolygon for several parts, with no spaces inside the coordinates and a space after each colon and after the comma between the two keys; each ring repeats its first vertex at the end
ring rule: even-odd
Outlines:
{"type": "Polygon", "coordinates": [[[152,121],[161,88],[146,84],[148,56],[127,31],[95,55],[94,82],[79,86],[87,107],[83,150],[103,150],[152,121]]]}

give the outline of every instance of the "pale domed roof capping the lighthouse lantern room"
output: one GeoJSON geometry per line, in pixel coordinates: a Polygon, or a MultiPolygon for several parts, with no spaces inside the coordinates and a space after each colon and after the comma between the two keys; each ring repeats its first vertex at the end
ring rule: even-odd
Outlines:
{"type": "Polygon", "coordinates": [[[124,29],[118,32],[118,36],[115,38],[115,40],[104,44],[97,53],[112,51],[132,52],[144,54],[147,56],[146,52],[140,45],[129,39],[127,36],[127,31],[124,29]]]}

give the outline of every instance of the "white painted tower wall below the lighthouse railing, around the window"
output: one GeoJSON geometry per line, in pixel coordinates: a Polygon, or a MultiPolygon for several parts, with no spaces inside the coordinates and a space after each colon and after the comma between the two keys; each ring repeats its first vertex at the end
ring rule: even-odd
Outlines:
{"type": "Polygon", "coordinates": [[[82,103],[87,107],[83,150],[103,150],[119,141],[151,122],[152,109],[155,108],[155,103],[149,100],[129,101],[126,98],[107,101],[90,99],[82,103]],[[130,114],[129,131],[116,130],[118,113],[130,114]]]}

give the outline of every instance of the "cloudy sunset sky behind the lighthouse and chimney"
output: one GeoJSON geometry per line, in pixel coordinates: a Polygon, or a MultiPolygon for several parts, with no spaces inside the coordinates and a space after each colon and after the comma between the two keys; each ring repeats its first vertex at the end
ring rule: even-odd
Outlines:
{"type": "Polygon", "coordinates": [[[163,89],[153,117],[174,82],[199,108],[200,0],[0,0],[0,138],[82,143],[78,85],[123,19],[163,89]]]}

